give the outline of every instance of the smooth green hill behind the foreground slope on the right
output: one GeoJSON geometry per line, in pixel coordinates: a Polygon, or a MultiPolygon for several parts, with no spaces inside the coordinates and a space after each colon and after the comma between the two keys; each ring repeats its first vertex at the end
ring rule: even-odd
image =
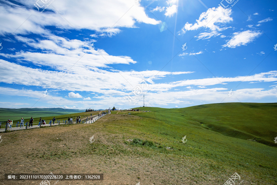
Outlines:
{"type": "Polygon", "coordinates": [[[134,115],[170,125],[189,123],[225,136],[276,146],[273,140],[277,137],[277,103],[221,103],[180,109],[139,109],[151,112],[136,112],[134,115]]]}

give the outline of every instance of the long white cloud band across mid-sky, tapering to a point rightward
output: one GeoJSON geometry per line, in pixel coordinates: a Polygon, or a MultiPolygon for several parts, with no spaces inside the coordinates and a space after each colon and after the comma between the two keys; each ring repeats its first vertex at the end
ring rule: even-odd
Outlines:
{"type": "MultiPolygon", "coordinates": [[[[72,67],[70,65],[68,66],[69,68],[72,67]]],[[[30,68],[0,59],[0,71],[2,71],[2,77],[0,78],[0,82],[4,82],[7,84],[21,84],[27,86],[35,85],[45,89],[63,89],[68,91],[84,91],[85,89],[88,92],[97,92],[113,95],[115,93],[121,94],[121,90],[133,90],[134,87],[137,84],[139,84],[143,79],[146,79],[150,83],[154,83],[152,80],[159,79],[167,75],[193,73],[165,72],[157,70],[140,72],[133,70],[106,71],[98,68],[82,66],[78,63],[76,63],[71,68],[71,70],[66,73],[62,70],[63,67],[57,66],[56,68],[58,70],[54,71],[43,70],[43,68],[30,68]],[[94,83],[97,85],[91,85],[87,83],[92,79],[94,83]],[[110,79],[114,79],[113,83],[103,83],[109,82],[110,79]]]]}

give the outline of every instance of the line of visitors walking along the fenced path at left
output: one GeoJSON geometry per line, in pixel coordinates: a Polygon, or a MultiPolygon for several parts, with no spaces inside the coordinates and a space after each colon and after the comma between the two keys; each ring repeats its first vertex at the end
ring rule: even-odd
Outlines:
{"type": "MultiPolygon", "coordinates": [[[[108,113],[110,113],[110,112],[108,112],[108,113]]],[[[100,114],[98,114],[98,115],[96,115],[96,116],[98,116],[98,118],[100,118],[100,117],[102,117],[102,116],[104,116],[104,115],[106,115],[106,114],[107,114],[107,112],[102,112],[102,113],[100,113],[100,114]]],[[[93,120],[92,114],[90,114],[90,116],[91,116],[91,120],[93,120]]],[[[84,117],[85,117],[85,116],[84,116],[84,117]]],[[[81,123],[81,116],[78,116],[78,117],[76,117],[76,118],[74,118],[74,119],[76,119],[76,123],[81,123]]],[[[56,118],[53,117],[53,119],[50,120],[49,124],[53,124],[53,125],[54,125],[54,124],[55,124],[55,121],[56,121],[56,118]]],[[[33,123],[34,123],[34,119],[33,119],[33,117],[31,117],[30,120],[29,120],[29,125],[28,125],[28,127],[33,127],[33,123]]],[[[56,123],[60,123],[60,121],[58,120],[56,123]]],[[[72,124],[72,123],[73,123],[73,118],[72,118],[72,117],[69,117],[69,118],[65,121],[65,123],[67,123],[67,124],[72,124]]],[[[28,124],[28,122],[26,122],[25,126],[27,126],[27,124],[28,124]]],[[[38,122],[38,126],[45,125],[45,124],[46,124],[46,121],[43,120],[43,119],[40,117],[40,118],[39,118],[39,122],[38,122]]],[[[8,120],[6,121],[6,125],[8,125],[8,129],[11,129],[11,128],[12,128],[12,125],[13,125],[13,121],[10,120],[10,119],[8,119],[8,120]]],[[[16,123],[16,127],[18,127],[18,125],[19,125],[20,129],[21,129],[21,127],[24,128],[24,118],[23,118],[23,117],[21,118],[20,122],[18,121],[18,122],[16,123]],[[20,124],[20,125],[19,125],[19,124],[20,124]]],[[[0,129],[1,129],[1,122],[0,122],[0,129]]]]}

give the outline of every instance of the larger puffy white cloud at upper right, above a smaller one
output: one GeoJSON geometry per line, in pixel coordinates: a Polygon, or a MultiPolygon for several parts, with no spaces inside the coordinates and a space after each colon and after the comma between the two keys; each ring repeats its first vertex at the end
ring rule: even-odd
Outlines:
{"type": "Polygon", "coordinates": [[[225,23],[233,21],[230,17],[231,10],[222,8],[221,6],[217,8],[209,8],[206,12],[203,12],[196,23],[190,24],[186,23],[182,28],[183,33],[189,30],[197,30],[200,27],[210,28],[211,31],[222,31],[226,29],[225,27],[219,27],[219,24],[224,26],[225,23]]]}

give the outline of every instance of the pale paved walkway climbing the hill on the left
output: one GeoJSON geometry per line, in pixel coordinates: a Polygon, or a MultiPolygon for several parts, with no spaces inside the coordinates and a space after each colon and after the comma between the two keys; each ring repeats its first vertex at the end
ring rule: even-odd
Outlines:
{"type": "MultiPolygon", "coordinates": [[[[84,121],[84,124],[94,123],[95,121],[97,121],[101,117],[103,117],[103,116],[98,117],[98,114],[97,114],[97,115],[93,115],[93,116],[88,117],[88,119],[87,118],[85,118],[85,119],[81,118],[81,122],[80,123],[82,123],[83,121],[84,121]],[[91,120],[91,117],[92,117],[92,120],[91,120]],[[88,121],[86,121],[86,119],[88,121]]],[[[31,127],[31,126],[28,127],[29,126],[29,123],[28,123],[27,129],[39,128],[39,126],[37,125],[38,123],[34,123],[34,124],[33,124],[33,127],[31,127]],[[34,124],[36,124],[36,125],[34,125],[34,124]]],[[[73,121],[72,124],[76,124],[76,121],[73,121]]],[[[79,124],[79,123],[77,123],[77,124],[79,124]]],[[[56,126],[56,125],[59,125],[58,121],[56,121],[55,124],[51,124],[51,126],[56,126]]],[[[68,123],[65,124],[65,123],[63,123],[63,121],[60,121],[60,125],[68,125],[68,123]]],[[[50,126],[50,124],[46,123],[45,125],[41,125],[41,127],[45,127],[45,126],[50,126]]],[[[5,129],[6,129],[6,123],[4,123],[4,124],[2,123],[0,132],[5,132],[5,129]]],[[[26,130],[26,122],[24,123],[24,127],[21,127],[21,129],[20,129],[20,124],[18,124],[18,127],[16,127],[16,124],[13,124],[12,128],[8,129],[8,130],[10,130],[10,131],[14,131],[14,130],[26,130]]]]}

